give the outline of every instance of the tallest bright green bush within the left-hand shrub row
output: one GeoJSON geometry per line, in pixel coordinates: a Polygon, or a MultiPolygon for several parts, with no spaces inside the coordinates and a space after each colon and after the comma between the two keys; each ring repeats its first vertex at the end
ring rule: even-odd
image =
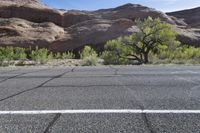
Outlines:
{"type": "Polygon", "coordinates": [[[45,64],[49,60],[48,50],[36,47],[35,50],[31,50],[30,58],[31,60],[36,61],[37,64],[45,64]]]}

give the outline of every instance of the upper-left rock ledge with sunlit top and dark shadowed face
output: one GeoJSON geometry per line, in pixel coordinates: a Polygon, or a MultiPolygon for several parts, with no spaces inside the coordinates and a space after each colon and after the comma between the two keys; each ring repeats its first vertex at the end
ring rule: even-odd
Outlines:
{"type": "Polygon", "coordinates": [[[21,18],[35,23],[52,22],[61,26],[62,13],[31,0],[0,0],[0,18],[21,18]]]}

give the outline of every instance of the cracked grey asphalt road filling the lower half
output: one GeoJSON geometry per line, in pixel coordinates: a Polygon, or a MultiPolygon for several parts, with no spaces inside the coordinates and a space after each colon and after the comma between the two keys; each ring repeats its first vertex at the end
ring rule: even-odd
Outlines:
{"type": "Polygon", "coordinates": [[[200,66],[0,68],[0,90],[1,133],[200,133],[200,66]]]}

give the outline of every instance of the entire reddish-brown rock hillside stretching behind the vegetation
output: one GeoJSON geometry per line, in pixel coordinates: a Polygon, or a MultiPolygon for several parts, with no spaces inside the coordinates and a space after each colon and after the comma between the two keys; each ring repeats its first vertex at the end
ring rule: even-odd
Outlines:
{"type": "Polygon", "coordinates": [[[85,44],[100,45],[138,32],[134,21],[147,16],[175,25],[183,43],[200,44],[200,30],[196,26],[199,21],[188,22],[189,16],[177,14],[181,12],[167,15],[134,4],[97,11],[66,11],[51,9],[37,0],[0,0],[0,46],[38,45],[62,52],[79,49],[85,44]]]}

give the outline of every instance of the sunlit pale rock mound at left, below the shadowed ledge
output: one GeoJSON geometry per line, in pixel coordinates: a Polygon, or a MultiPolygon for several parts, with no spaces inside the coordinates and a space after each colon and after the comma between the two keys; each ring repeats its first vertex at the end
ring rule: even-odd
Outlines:
{"type": "Polygon", "coordinates": [[[48,47],[62,38],[64,29],[51,22],[33,23],[17,18],[0,18],[0,44],[48,47]]]}

